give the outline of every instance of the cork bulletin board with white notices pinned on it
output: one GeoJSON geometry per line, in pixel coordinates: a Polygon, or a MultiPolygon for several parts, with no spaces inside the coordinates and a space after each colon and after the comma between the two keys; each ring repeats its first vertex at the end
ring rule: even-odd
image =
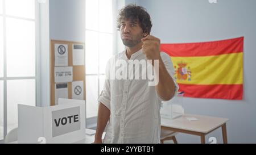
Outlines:
{"type": "Polygon", "coordinates": [[[51,91],[50,92],[51,106],[57,105],[56,100],[57,98],[59,98],[59,95],[61,94],[65,96],[61,98],[85,100],[86,93],[85,93],[85,44],[84,43],[73,42],[73,41],[51,40],[50,91],[51,91]],[[58,65],[58,64],[62,64],[62,65],[58,65]],[[58,73],[67,73],[67,72],[59,72],[59,71],[57,72],[56,70],[58,69],[62,70],[67,68],[72,69],[72,71],[69,70],[69,74],[68,74],[69,77],[59,79],[60,74],[58,73]],[[56,78],[56,75],[58,75],[57,76],[58,78],[56,78]],[[76,86],[75,83],[77,82],[80,83],[80,85],[76,86]]]}

